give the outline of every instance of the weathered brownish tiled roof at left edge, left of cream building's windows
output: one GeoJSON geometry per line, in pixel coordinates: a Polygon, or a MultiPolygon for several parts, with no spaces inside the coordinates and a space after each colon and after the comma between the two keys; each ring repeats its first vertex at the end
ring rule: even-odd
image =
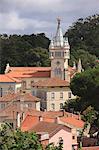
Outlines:
{"type": "Polygon", "coordinates": [[[9,93],[2,97],[0,97],[0,101],[17,101],[17,100],[24,100],[24,101],[32,101],[37,102],[40,101],[39,98],[33,96],[31,93],[9,93]]]}

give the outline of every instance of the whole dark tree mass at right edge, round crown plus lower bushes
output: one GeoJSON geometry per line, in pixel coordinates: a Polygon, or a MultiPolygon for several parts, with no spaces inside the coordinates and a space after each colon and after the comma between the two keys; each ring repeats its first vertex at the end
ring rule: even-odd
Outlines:
{"type": "Polygon", "coordinates": [[[77,100],[69,101],[65,109],[82,113],[85,121],[99,127],[99,67],[76,74],[70,88],[77,100]]]}

